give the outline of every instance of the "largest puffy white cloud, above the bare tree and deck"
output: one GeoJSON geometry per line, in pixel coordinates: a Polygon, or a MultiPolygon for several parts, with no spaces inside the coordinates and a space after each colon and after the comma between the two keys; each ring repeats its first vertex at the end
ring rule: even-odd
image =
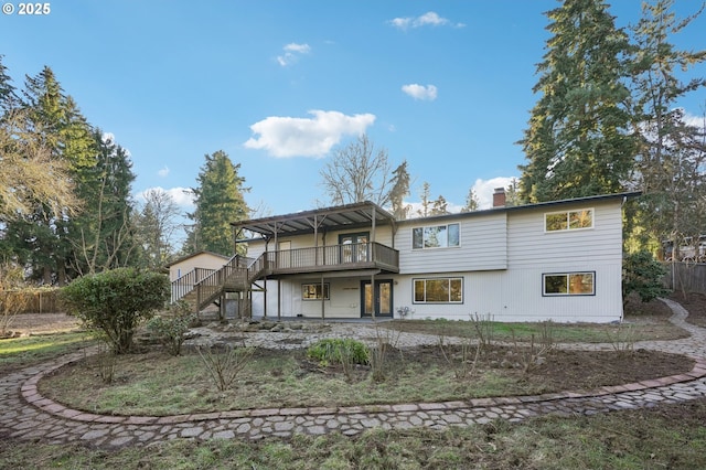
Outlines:
{"type": "Polygon", "coordinates": [[[365,132],[375,122],[375,115],[346,116],[339,111],[310,110],[312,118],[270,116],[250,126],[259,137],[244,146],[265,149],[272,157],[323,157],[343,136],[365,132]]]}

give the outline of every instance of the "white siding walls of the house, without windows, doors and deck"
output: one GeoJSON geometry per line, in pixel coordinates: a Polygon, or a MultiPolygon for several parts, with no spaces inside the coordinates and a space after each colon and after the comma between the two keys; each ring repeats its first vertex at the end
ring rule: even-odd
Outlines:
{"type": "MultiPolygon", "coordinates": [[[[339,234],[330,232],[327,245],[338,244],[339,234]]],[[[377,227],[376,242],[399,250],[400,274],[378,275],[392,279],[393,316],[407,319],[446,318],[469,320],[471,316],[495,321],[610,322],[622,318],[622,211],[619,199],[550,204],[537,207],[488,211],[479,214],[411,220],[400,223],[393,244],[392,229],[377,227]],[[575,231],[545,232],[544,214],[549,212],[593,210],[593,226],[575,231]],[[460,246],[413,249],[413,228],[460,224],[460,246]],[[543,296],[543,275],[595,273],[595,295],[543,296]],[[415,303],[414,279],[460,277],[463,281],[461,303],[415,303]]],[[[281,238],[292,248],[313,246],[312,236],[281,238]]],[[[323,245],[322,241],[319,243],[323,245]]],[[[270,249],[275,249],[270,243],[270,249]]],[[[248,256],[264,252],[263,242],[250,243],[248,256]]],[[[341,274],[339,274],[341,276],[341,274]]],[[[361,317],[361,280],[350,277],[324,278],[330,285],[325,318],[361,317]]],[[[267,313],[277,316],[280,295],[282,317],[321,317],[320,300],[302,300],[301,285],[321,278],[296,277],[267,281],[267,313]]],[[[263,314],[264,295],[254,293],[255,316],[263,314]]]]}

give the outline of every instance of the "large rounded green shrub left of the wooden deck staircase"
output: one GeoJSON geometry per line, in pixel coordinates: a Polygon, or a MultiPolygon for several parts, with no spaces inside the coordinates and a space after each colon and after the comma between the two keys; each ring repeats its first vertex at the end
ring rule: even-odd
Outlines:
{"type": "Polygon", "coordinates": [[[100,330],[116,354],[132,349],[136,329],[168,298],[167,276],[135,268],[84,276],[60,291],[66,312],[100,330]]]}

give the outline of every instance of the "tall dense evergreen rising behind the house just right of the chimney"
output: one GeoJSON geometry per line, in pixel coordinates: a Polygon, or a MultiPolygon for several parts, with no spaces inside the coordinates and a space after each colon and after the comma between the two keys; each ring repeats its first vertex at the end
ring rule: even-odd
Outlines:
{"type": "Polygon", "coordinates": [[[546,13],[547,52],[534,87],[542,96],[520,141],[528,202],[621,191],[634,157],[627,34],[601,0],[566,0],[546,13]]]}

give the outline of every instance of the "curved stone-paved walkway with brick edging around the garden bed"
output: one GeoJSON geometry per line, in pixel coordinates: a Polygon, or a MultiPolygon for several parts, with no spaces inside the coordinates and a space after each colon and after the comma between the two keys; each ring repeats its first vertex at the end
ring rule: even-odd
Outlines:
{"type": "Polygon", "coordinates": [[[590,415],[617,409],[655,406],[706,396],[706,330],[684,321],[678,303],[664,300],[674,311],[672,321],[692,337],[678,341],[639,342],[635,348],[676,352],[696,360],[686,374],[592,391],[537,396],[482,398],[443,403],[350,406],[336,408],[271,408],[196,415],[103,416],[66,408],[38,392],[39,381],[83,353],[0,377],[0,437],[45,444],[84,442],[101,448],[145,446],[178,438],[260,439],[293,434],[342,432],[365,429],[405,429],[427,426],[442,429],[488,423],[496,418],[520,421],[545,414],[590,415]]]}

